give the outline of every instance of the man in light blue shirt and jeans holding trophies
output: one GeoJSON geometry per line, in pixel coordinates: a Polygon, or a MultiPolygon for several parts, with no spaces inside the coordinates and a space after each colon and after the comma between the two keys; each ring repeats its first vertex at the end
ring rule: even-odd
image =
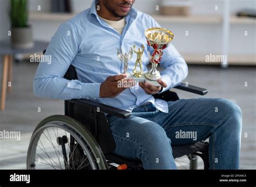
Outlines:
{"type": "MultiPolygon", "coordinates": [[[[144,169],[177,169],[172,147],[209,137],[210,169],[238,169],[242,125],[238,105],[219,98],[166,102],[158,97],[177,87],[188,74],[186,62],[173,45],[164,49],[160,87],[132,80],[128,80],[129,88],[117,86],[126,78],[117,48],[123,46],[128,51],[133,44],[144,45],[145,51],[152,53],[144,32],[160,27],[152,17],[134,9],[134,2],[93,1],[90,9],[63,23],[45,52],[51,55],[51,64],[41,62],[38,66],[33,82],[35,95],[88,99],[131,112],[127,119],[106,114],[116,143],[112,153],[140,160],[144,169]],[[71,65],[77,80],[64,78],[71,65]]],[[[150,61],[148,53],[142,57],[143,71],[150,61]]],[[[130,72],[135,62],[133,55],[130,72]]],[[[58,143],[62,141],[59,139],[58,143]]]]}

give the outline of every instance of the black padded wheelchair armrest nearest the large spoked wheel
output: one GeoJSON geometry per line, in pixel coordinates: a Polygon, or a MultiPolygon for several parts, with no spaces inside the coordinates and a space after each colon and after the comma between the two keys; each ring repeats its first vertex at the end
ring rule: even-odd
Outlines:
{"type": "Polygon", "coordinates": [[[131,112],[122,110],[122,109],[118,109],[116,107],[113,106],[109,106],[109,105],[105,105],[102,103],[98,103],[89,99],[72,99],[69,100],[69,102],[74,103],[74,104],[78,104],[84,107],[87,107],[89,109],[93,109],[95,111],[97,111],[97,109],[100,110],[100,112],[104,112],[119,118],[129,118],[131,116],[131,112]]]}

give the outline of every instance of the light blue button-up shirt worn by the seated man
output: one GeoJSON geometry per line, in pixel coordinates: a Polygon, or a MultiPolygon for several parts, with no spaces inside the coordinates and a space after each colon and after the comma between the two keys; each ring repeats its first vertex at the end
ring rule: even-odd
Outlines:
{"type": "MultiPolygon", "coordinates": [[[[151,16],[132,8],[125,17],[126,26],[120,35],[98,17],[96,4],[97,1],[93,1],[90,9],[60,25],[51,38],[45,53],[48,57],[44,58],[51,59],[51,62],[42,60],[39,63],[33,82],[35,95],[65,100],[92,99],[127,111],[150,102],[158,110],[168,112],[164,100],[147,95],[138,85],[114,98],[99,98],[100,84],[108,76],[121,74],[124,70],[117,49],[123,46],[124,52],[128,52],[134,44],[137,49],[144,45],[145,51],[152,54],[153,48],[147,45],[144,33],[148,28],[160,26],[151,16]],[[78,80],[63,78],[71,64],[76,68],[78,80]]],[[[149,53],[144,52],[143,71],[147,71],[149,53]]],[[[132,72],[136,57],[133,54],[129,61],[128,72],[132,72]]],[[[164,69],[161,78],[167,83],[163,91],[180,84],[188,74],[186,62],[173,45],[164,49],[160,67],[164,69]]]]}

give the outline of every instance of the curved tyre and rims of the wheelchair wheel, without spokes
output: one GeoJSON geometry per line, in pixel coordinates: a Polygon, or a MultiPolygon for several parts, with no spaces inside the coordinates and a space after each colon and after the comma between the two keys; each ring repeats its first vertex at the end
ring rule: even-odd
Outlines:
{"type": "MultiPolygon", "coordinates": [[[[62,130],[70,133],[70,135],[72,135],[76,139],[76,141],[79,143],[79,145],[83,148],[84,152],[86,153],[86,156],[90,161],[90,166],[92,167],[92,169],[108,169],[105,156],[102,150],[100,149],[97,141],[92,136],[92,134],[77,120],[68,116],[63,116],[63,115],[50,116],[42,120],[41,123],[37,125],[37,127],[33,131],[33,134],[30,140],[28,156],[26,159],[27,169],[35,169],[36,167],[35,155],[36,155],[37,143],[41,138],[41,135],[44,132],[44,130],[46,130],[49,127],[61,128],[62,130]],[[80,135],[80,138],[78,135],[80,135]],[[89,148],[92,150],[92,154],[89,152],[89,149],[87,148],[87,146],[89,146],[89,148]],[[96,166],[94,159],[92,160],[92,156],[98,159],[99,161],[97,162],[98,166],[96,166]]],[[[52,169],[55,169],[55,168],[52,168],[52,169]]]]}

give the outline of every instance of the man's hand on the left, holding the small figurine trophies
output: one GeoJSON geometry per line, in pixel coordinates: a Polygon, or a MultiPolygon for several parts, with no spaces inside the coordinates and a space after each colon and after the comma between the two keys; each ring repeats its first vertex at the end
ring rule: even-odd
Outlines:
{"type": "Polygon", "coordinates": [[[133,87],[135,82],[129,79],[124,80],[126,77],[126,74],[107,77],[106,80],[100,84],[99,97],[116,97],[125,89],[133,87]]]}

